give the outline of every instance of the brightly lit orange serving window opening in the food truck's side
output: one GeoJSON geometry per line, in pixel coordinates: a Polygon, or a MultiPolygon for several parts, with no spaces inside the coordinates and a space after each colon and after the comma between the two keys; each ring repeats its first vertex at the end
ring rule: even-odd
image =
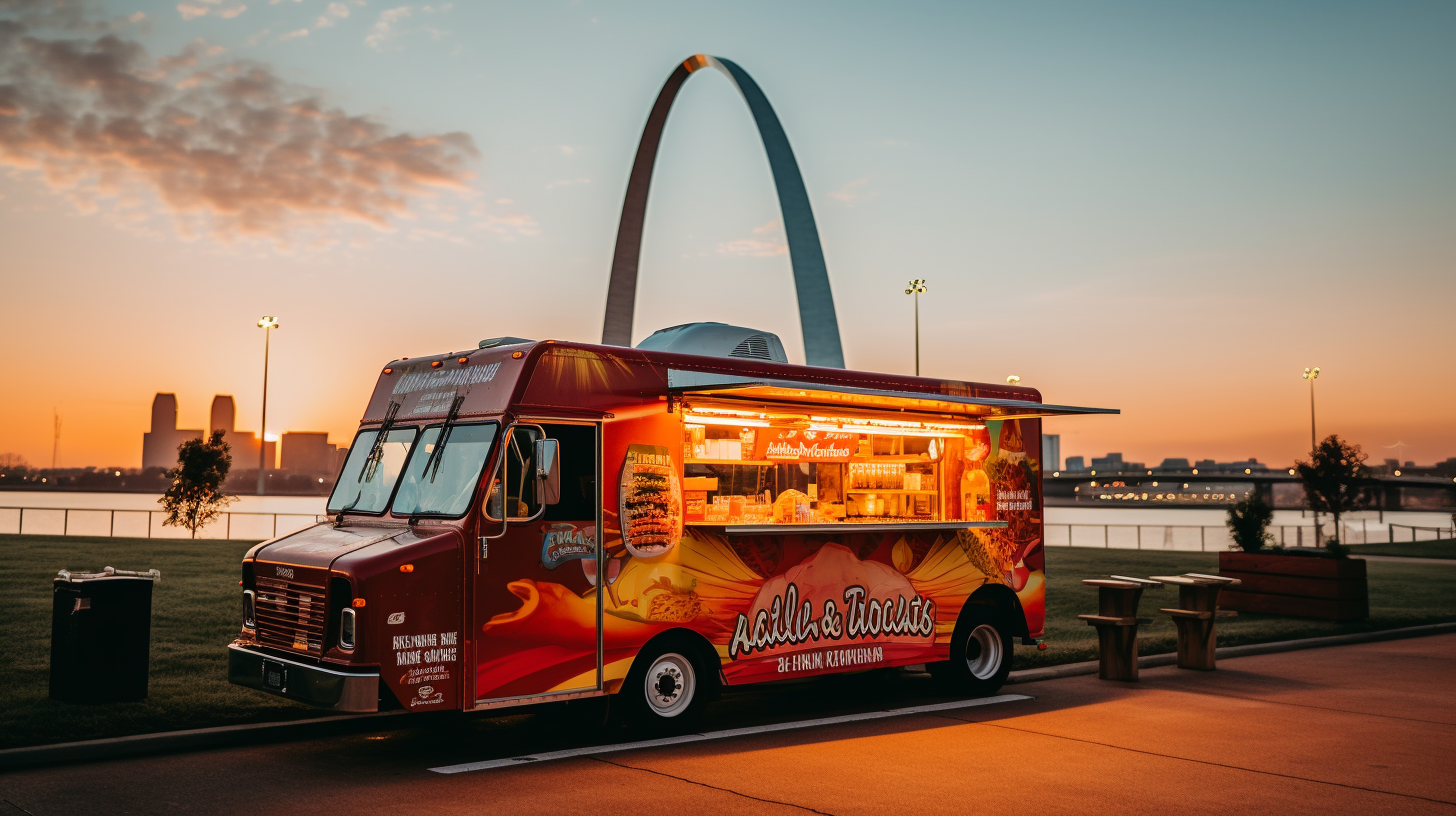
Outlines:
{"type": "Polygon", "coordinates": [[[984,423],[821,412],[684,405],[683,520],[994,520],[984,423]]]}

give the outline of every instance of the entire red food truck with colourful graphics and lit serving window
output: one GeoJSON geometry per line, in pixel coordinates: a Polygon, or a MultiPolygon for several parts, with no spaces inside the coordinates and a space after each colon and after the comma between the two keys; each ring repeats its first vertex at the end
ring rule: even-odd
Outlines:
{"type": "Polygon", "coordinates": [[[1031,388],[786,363],[690,323],[384,366],[329,520],[243,558],[233,683],[338,711],[925,664],[992,694],[1045,609],[1031,388]]]}

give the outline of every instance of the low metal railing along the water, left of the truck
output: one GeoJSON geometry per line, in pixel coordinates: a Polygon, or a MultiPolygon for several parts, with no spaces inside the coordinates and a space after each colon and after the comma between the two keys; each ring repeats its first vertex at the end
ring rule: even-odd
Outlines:
{"type": "MultiPolygon", "coordinates": [[[[223,511],[198,527],[197,538],[262,541],[326,520],[313,513],[223,511]]],[[[0,507],[0,535],[63,535],[96,538],[192,538],[186,527],[162,522],[162,510],[95,507],[0,507]]]]}

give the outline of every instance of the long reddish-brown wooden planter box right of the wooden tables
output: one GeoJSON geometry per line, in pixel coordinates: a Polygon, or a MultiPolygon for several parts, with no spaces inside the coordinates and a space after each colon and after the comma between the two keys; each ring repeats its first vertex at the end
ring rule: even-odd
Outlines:
{"type": "Polygon", "coordinates": [[[1219,596],[1223,609],[1325,621],[1370,616],[1366,562],[1358,558],[1220,552],[1219,574],[1242,581],[1219,596]]]}

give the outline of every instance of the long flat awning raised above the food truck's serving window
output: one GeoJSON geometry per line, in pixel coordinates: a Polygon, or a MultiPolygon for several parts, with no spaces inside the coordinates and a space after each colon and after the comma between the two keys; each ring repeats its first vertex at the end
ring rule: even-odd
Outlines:
{"type": "Polygon", "coordinates": [[[757,380],[713,385],[684,385],[670,389],[674,395],[711,396],[735,402],[772,405],[820,405],[839,409],[893,409],[922,414],[974,415],[986,420],[1031,420],[1040,417],[1076,417],[1085,414],[1120,414],[1117,408],[1080,408],[1048,405],[1029,399],[996,399],[989,396],[960,396],[919,391],[881,391],[786,380],[757,380]]]}

